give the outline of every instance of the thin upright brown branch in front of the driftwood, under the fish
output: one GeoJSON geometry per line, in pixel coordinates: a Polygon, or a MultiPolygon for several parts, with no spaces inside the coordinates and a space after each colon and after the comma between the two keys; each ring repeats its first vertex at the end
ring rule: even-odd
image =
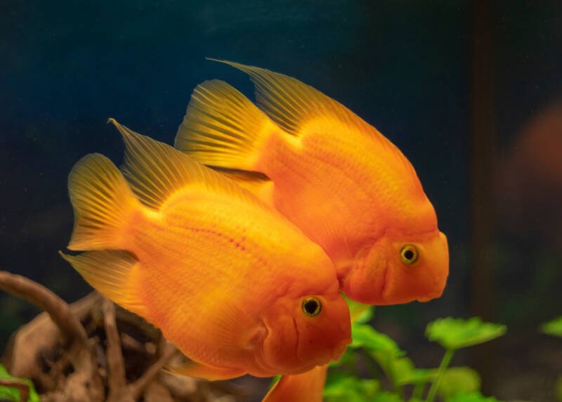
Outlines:
{"type": "Polygon", "coordinates": [[[107,382],[109,385],[108,401],[119,401],[119,396],[126,388],[125,365],[123,363],[123,354],[121,350],[121,339],[117,332],[117,323],[115,322],[115,304],[109,299],[103,299],[103,325],[105,328],[105,337],[107,345],[105,346],[105,356],[107,358],[107,368],[109,368],[109,376],[107,382]]]}

